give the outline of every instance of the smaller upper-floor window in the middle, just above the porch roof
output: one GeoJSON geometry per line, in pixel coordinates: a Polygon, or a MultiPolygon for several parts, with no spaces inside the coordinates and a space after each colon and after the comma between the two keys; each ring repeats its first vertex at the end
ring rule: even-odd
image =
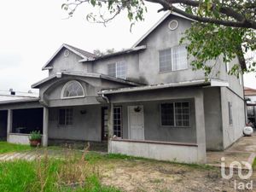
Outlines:
{"type": "Polygon", "coordinates": [[[125,61],[108,64],[108,75],[119,79],[126,79],[126,68],[125,61]]]}

